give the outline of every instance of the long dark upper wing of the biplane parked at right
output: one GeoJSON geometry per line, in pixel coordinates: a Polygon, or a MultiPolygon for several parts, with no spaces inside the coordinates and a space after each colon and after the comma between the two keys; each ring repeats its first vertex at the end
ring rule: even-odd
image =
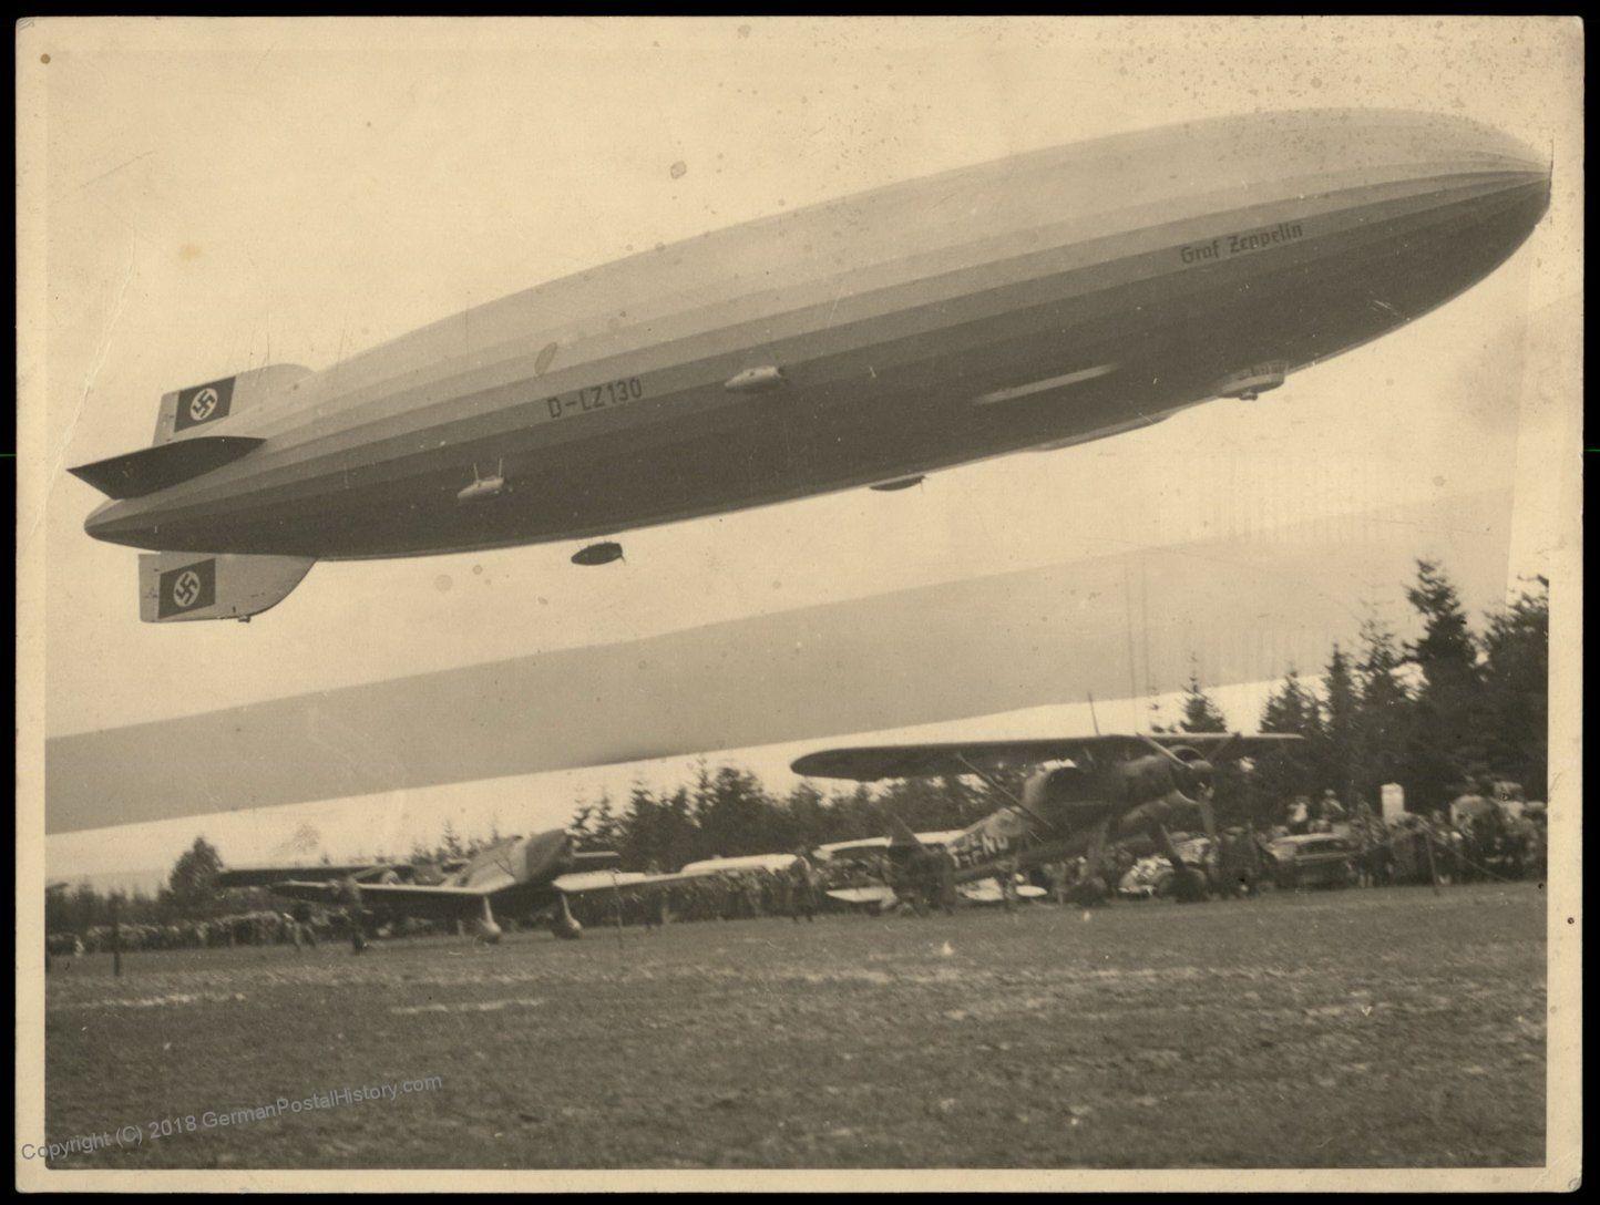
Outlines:
{"type": "Polygon", "coordinates": [[[1096,757],[1139,757],[1152,743],[1190,746],[1206,755],[1259,757],[1298,736],[1245,736],[1242,733],[1157,733],[1152,736],[1051,736],[1026,741],[941,741],[933,744],[878,744],[822,749],[790,765],[806,778],[848,778],[875,783],[885,778],[942,778],[995,770],[1024,770],[1042,762],[1078,762],[1096,757]]]}

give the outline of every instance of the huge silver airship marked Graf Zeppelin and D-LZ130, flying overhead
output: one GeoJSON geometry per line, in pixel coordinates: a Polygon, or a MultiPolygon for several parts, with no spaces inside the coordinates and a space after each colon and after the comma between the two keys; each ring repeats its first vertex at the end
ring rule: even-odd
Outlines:
{"type": "Polygon", "coordinates": [[[618,533],[1062,448],[1306,365],[1509,258],[1550,165],[1435,115],[1256,114],[1029,152],[659,246],[322,371],[168,392],[72,472],[149,621],[317,560],[618,533]]]}

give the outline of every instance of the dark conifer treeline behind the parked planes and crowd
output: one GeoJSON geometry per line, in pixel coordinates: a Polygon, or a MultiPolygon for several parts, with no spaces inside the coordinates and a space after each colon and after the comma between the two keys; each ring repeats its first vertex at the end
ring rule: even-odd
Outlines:
{"type": "MultiPolygon", "coordinates": [[[[1355,650],[1334,645],[1320,680],[1290,667],[1261,712],[1258,728],[1304,739],[1246,775],[1224,767],[1218,811],[1224,823],[1270,823],[1298,794],[1333,791],[1350,803],[1378,802],[1379,786],[1400,783],[1406,807],[1432,811],[1483,778],[1523,784],[1542,797],[1549,680],[1549,582],[1528,582],[1509,607],[1474,631],[1459,592],[1434,562],[1418,562],[1406,600],[1419,635],[1400,642],[1376,621],[1355,650]]],[[[1152,725],[1163,730],[1160,723],[1152,725]]],[[[1166,731],[1221,733],[1235,725],[1190,675],[1181,717],[1166,731]]],[[[1002,783],[1014,791],[1019,783],[1002,783]]],[[[573,827],[586,848],[621,851],[632,869],[675,869],[702,858],[811,850],[826,842],[878,837],[901,819],[914,831],[963,827],[1005,803],[1002,792],[970,779],[909,779],[880,789],[822,794],[802,783],[786,795],[766,791],[736,767],[704,762],[694,779],[667,792],[643,784],[621,807],[610,795],[579,803],[573,827]]],[[[446,824],[434,848],[413,847],[413,863],[472,855],[486,840],[461,839],[446,824]]],[[[123,919],[170,923],[210,919],[269,898],[224,898],[216,890],[218,851],[202,837],[173,867],[155,898],[123,899],[123,919]]],[[[51,893],[46,923],[82,928],[104,923],[106,899],[88,885],[51,893]]]]}

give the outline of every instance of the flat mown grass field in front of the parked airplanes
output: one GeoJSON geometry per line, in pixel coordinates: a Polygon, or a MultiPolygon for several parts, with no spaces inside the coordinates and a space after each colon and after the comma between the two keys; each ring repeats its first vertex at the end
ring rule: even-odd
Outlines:
{"type": "Polygon", "coordinates": [[[1544,1162],[1533,883],[109,962],[50,975],[48,1138],[144,1141],[53,1167],[1544,1162]]]}

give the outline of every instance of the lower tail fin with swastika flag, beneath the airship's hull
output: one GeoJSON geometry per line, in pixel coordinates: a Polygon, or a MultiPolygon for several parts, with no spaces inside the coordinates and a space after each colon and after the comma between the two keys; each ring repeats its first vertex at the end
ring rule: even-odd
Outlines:
{"type": "Polygon", "coordinates": [[[147,624],[250,619],[283,602],[314,563],[312,557],[141,552],[139,618],[147,624]]]}

